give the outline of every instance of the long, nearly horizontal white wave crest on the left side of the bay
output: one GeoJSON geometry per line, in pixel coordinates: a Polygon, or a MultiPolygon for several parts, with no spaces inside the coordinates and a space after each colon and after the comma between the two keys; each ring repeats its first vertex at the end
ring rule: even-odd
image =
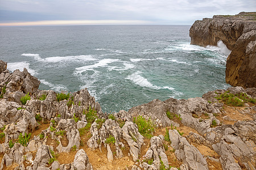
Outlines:
{"type": "Polygon", "coordinates": [[[36,61],[40,62],[62,62],[62,61],[94,61],[97,60],[91,55],[80,55],[80,56],[56,56],[56,57],[47,57],[47,58],[41,58],[39,54],[21,54],[21,56],[26,56],[26,57],[34,57],[36,61]]]}

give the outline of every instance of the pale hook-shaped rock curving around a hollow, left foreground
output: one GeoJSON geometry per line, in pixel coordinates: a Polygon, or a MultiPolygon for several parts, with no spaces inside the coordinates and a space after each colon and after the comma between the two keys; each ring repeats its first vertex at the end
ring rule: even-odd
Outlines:
{"type": "Polygon", "coordinates": [[[80,147],[80,134],[79,130],[76,129],[76,122],[73,119],[67,119],[67,120],[60,120],[59,124],[56,126],[56,130],[65,130],[68,138],[68,146],[64,147],[61,144],[60,139],[59,146],[56,147],[56,149],[59,152],[69,152],[73,146],[76,146],[76,148],[80,147]]]}

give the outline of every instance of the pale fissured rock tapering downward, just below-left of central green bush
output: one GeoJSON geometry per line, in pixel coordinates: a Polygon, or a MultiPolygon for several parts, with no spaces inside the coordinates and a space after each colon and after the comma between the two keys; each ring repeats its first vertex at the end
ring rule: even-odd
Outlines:
{"type": "Polygon", "coordinates": [[[130,154],[133,156],[134,162],[139,158],[141,146],[144,142],[143,136],[138,131],[138,126],[133,122],[126,121],[122,127],[123,139],[125,139],[130,147],[130,154]]]}

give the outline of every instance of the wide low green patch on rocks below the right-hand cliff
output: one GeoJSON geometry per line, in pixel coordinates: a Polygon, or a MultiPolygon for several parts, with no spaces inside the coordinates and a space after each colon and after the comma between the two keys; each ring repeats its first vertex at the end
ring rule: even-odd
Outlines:
{"type": "Polygon", "coordinates": [[[232,105],[236,107],[243,107],[245,102],[256,103],[255,99],[251,99],[245,93],[233,95],[229,91],[224,92],[215,97],[226,105],[232,105]]]}

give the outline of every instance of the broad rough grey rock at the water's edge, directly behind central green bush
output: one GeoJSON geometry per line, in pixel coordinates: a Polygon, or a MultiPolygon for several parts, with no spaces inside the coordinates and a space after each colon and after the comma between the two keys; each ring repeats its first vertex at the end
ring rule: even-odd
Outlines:
{"type": "Polygon", "coordinates": [[[141,115],[147,120],[151,118],[151,120],[155,122],[156,126],[166,127],[171,126],[171,121],[166,116],[166,111],[166,103],[158,99],[155,99],[150,101],[150,103],[142,104],[137,107],[131,108],[128,113],[132,117],[137,117],[141,115]]]}

